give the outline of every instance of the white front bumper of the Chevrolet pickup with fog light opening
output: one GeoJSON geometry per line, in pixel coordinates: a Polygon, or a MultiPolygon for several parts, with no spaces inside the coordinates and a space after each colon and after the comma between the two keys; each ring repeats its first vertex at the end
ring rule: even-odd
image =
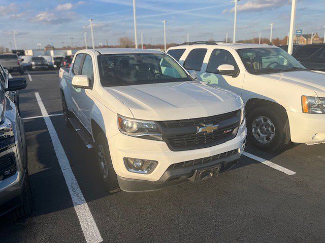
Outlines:
{"type": "MultiPolygon", "coordinates": [[[[243,123],[242,126],[239,128],[237,136],[230,141],[208,148],[185,151],[171,151],[165,142],[135,138],[123,135],[122,133],[118,133],[115,136],[111,137],[108,142],[113,167],[116,174],[118,175],[121,189],[125,191],[144,191],[161,189],[166,186],[169,186],[161,185],[153,187],[150,183],[153,183],[155,185],[165,184],[165,182],[168,181],[168,178],[165,178],[164,174],[168,171],[171,165],[177,163],[182,163],[184,161],[189,161],[193,159],[202,159],[233,150],[238,150],[238,157],[234,156],[231,159],[220,161],[213,160],[212,162],[214,164],[228,164],[230,162],[237,161],[241,153],[243,152],[243,144],[245,143],[246,135],[246,124],[243,123]],[[155,170],[149,175],[132,173],[125,168],[123,163],[124,157],[155,160],[158,161],[158,165],[155,170]],[[140,180],[140,182],[137,182],[137,180],[140,180]],[[127,187],[124,187],[123,185],[126,184],[127,187]],[[130,184],[134,185],[131,185],[131,189],[128,189],[130,188],[130,184]],[[140,186],[139,189],[137,189],[137,186],[135,186],[137,184],[147,184],[147,186],[140,186]]],[[[206,164],[202,165],[202,167],[205,166],[206,164]]],[[[190,171],[192,171],[193,169],[196,168],[192,168],[190,171]]],[[[184,174],[184,171],[181,171],[180,173],[184,174]]]]}

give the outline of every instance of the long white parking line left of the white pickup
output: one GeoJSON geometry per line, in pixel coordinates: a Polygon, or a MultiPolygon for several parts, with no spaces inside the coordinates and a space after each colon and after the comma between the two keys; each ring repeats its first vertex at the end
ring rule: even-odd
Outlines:
{"type": "Polygon", "coordinates": [[[85,239],[87,242],[102,242],[103,238],[101,236],[101,233],[99,229],[97,228],[97,225],[91,215],[91,212],[89,210],[89,207],[87,205],[87,202],[80,190],[80,187],[78,185],[78,182],[72,172],[72,169],[70,167],[70,163],[68,160],[68,157],[66,153],[64,152],[64,149],[60,143],[60,140],[57,136],[57,133],[54,129],[54,126],[52,124],[52,121],[49,117],[49,114],[47,113],[45,106],[42,102],[42,99],[38,92],[35,93],[37,102],[40,106],[42,115],[45,120],[45,124],[47,126],[47,129],[49,131],[52,144],[56,153],[57,160],[59,162],[62,174],[64,176],[64,179],[66,180],[71,199],[73,201],[73,205],[75,208],[75,211],[77,213],[77,216],[79,218],[79,222],[83,231],[83,234],[85,236],[85,239]]]}

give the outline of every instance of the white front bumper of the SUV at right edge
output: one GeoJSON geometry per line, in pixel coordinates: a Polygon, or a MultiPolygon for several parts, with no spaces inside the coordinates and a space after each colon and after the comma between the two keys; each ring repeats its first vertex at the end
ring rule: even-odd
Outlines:
{"type": "Polygon", "coordinates": [[[325,143],[325,114],[307,114],[287,111],[291,142],[325,143]]]}

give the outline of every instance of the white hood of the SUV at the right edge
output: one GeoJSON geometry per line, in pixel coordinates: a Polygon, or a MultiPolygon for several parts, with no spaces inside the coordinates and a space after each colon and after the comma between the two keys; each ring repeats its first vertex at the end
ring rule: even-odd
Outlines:
{"type": "Polygon", "coordinates": [[[293,71],[261,75],[313,90],[318,96],[325,94],[325,74],[314,71],[293,71]]]}

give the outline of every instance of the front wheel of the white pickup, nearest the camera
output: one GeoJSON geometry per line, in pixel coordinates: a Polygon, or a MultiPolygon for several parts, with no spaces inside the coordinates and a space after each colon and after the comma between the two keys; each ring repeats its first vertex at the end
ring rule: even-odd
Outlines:
{"type": "Polygon", "coordinates": [[[107,143],[106,136],[100,133],[96,137],[96,158],[101,174],[102,183],[107,191],[110,193],[120,191],[117,181],[117,175],[112,165],[112,159],[107,143]]]}

